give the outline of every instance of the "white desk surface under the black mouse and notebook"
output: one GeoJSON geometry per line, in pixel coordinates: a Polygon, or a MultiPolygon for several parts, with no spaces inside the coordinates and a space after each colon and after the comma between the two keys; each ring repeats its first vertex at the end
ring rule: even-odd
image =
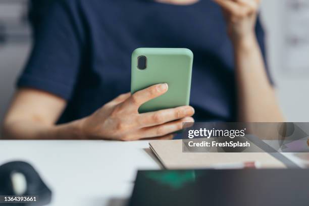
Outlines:
{"type": "MultiPolygon", "coordinates": [[[[120,206],[131,195],[138,169],[160,169],[145,149],[148,141],[2,140],[0,165],[30,163],[53,190],[52,205],[120,206]]],[[[305,166],[295,154],[285,156],[305,166]]]]}

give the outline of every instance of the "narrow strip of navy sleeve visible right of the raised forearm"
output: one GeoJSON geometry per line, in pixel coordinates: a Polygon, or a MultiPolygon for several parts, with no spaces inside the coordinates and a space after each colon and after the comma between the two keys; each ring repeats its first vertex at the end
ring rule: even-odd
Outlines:
{"type": "Polygon", "coordinates": [[[274,85],[274,81],[273,81],[273,78],[271,76],[269,66],[267,64],[266,47],[265,47],[265,32],[264,32],[263,26],[261,24],[260,18],[258,18],[258,21],[256,22],[255,33],[256,33],[256,37],[258,39],[260,48],[261,48],[262,55],[263,55],[263,59],[264,59],[264,63],[265,63],[265,69],[266,69],[268,79],[269,79],[270,83],[272,85],[274,85]]]}

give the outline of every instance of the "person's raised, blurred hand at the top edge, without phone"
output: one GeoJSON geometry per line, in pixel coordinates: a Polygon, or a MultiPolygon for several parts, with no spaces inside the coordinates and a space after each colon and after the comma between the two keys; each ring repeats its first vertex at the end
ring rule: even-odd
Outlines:
{"type": "Polygon", "coordinates": [[[213,0],[221,6],[230,38],[239,40],[254,35],[260,0],[213,0]]]}

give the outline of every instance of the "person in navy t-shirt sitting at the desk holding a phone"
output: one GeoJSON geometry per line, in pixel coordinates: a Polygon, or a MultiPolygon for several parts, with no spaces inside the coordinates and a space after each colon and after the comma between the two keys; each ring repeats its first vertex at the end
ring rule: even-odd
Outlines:
{"type": "Polygon", "coordinates": [[[53,1],[34,26],[3,136],[171,139],[194,119],[283,121],[258,7],[259,0],[53,1]],[[138,47],[192,50],[191,106],[138,114],[143,102],[168,90],[162,82],[128,93],[138,47]]]}

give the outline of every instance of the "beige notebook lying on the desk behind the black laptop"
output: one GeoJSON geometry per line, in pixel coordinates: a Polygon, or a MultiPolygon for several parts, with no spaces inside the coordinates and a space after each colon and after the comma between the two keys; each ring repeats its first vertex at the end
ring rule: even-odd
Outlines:
{"type": "Polygon", "coordinates": [[[286,166],[266,152],[182,152],[182,140],[155,140],[149,142],[166,169],[212,168],[216,164],[259,162],[261,168],[286,168],[286,166]]]}

